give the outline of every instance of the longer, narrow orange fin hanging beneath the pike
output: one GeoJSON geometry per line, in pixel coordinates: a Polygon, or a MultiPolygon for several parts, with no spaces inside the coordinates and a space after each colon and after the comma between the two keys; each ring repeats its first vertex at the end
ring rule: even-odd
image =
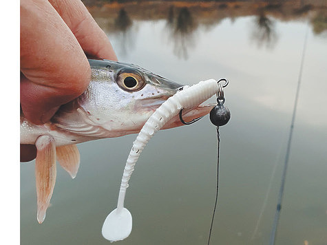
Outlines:
{"type": "Polygon", "coordinates": [[[56,183],[56,145],[50,136],[40,136],[36,142],[37,220],[41,224],[50,204],[56,183]]]}

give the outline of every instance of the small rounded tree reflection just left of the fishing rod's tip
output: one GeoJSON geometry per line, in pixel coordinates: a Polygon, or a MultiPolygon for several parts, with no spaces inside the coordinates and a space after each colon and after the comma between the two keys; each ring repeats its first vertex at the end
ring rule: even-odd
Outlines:
{"type": "Polygon", "coordinates": [[[258,47],[265,45],[267,48],[273,48],[277,43],[275,23],[264,12],[255,17],[251,39],[257,43],[258,47]]]}

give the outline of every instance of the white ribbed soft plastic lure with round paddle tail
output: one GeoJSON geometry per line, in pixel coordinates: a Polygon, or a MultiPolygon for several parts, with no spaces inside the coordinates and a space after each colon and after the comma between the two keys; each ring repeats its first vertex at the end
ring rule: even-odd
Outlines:
{"type": "Polygon", "coordinates": [[[162,103],[145,122],[127,158],[120,184],[117,208],[109,213],[103,224],[102,234],[105,239],[116,242],[125,239],[131,233],[132,218],[131,213],[124,208],[125,194],[135,164],[150,138],[169,122],[171,118],[176,116],[181,109],[189,109],[200,105],[214,94],[221,92],[221,88],[218,81],[213,79],[201,81],[191,87],[184,86],[182,91],[177,92],[168,98],[165,103],[162,103]]]}

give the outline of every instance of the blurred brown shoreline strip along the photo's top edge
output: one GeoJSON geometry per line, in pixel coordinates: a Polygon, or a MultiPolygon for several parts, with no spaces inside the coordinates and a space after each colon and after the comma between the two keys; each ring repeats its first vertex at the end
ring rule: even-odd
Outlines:
{"type": "Polygon", "coordinates": [[[222,19],[267,16],[281,21],[308,19],[315,34],[327,30],[326,0],[280,1],[105,1],[83,0],[95,19],[105,19],[107,30],[114,30],[120,10],[129,19],[167,20],[169,14],[177,14],[187,8],[197,24],[210,26],[222,19]]]}

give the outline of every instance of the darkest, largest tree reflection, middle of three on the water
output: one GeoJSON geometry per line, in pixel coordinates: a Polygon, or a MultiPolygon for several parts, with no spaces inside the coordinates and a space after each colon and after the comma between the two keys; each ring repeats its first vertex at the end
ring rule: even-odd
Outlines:
{"type": "Polygon", "coordinates": [[[193,19],[187,7],[180,8],[177,17],[174,17],[174,9],[171,6],[167,16],[167,28],[169,41],[173,41],[173,53],[178,58],[189,58],[188,49],[194,46],[194,31],[198,24],[193,19]]]}

